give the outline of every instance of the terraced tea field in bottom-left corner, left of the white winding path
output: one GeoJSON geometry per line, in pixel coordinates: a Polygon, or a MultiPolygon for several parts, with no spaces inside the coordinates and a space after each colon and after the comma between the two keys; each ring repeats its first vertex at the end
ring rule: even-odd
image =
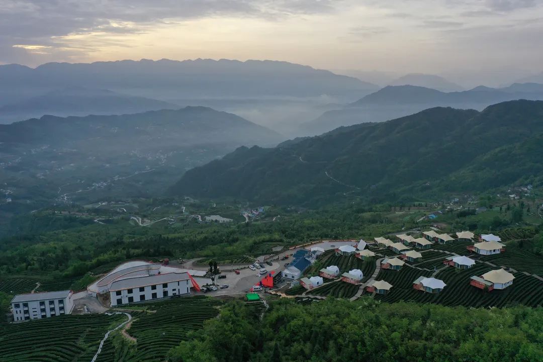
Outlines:
{"type": "Polygon", "coordinates": [[[0,327],[0,361],[90,361],[125,315],[65,315],[0,327]]]}

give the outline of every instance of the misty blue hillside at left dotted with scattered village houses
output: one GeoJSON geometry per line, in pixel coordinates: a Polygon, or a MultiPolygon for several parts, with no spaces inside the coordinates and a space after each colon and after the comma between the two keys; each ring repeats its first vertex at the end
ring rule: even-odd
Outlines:
{"type": "Polygon", "coordinates": [[[43,116],[0,125],[1,188],[9,190],[12,208],[161,193],[186,169],[240,145],[270,147],[283,139],[244,118],[206,107],[43,116]]]}

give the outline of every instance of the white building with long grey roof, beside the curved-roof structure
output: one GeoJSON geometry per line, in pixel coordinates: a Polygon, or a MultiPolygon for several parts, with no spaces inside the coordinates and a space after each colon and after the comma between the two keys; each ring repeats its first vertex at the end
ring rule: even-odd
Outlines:
{"type": "Polygon", "coordinates": [[[172,272],[113,282],[109,289],[111,306],[189,294],[190,279],[186,272],[172,272]]]}

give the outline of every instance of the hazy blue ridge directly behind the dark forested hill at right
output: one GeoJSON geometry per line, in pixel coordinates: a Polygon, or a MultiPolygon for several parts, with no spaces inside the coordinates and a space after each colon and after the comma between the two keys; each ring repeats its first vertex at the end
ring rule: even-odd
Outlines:
{"type": "Polygon", "coordinates": [[[383,122],[439,106],[483,110],[491,104],[517,99],[542,100],[543,85],[515,83],[504,88],[479,86],[469,91],[448,93],[412,85],[387,86],[342,109],[324,112],[318,118],[301,124],[297,133],[318,135],[339,126],[383,122]]]}

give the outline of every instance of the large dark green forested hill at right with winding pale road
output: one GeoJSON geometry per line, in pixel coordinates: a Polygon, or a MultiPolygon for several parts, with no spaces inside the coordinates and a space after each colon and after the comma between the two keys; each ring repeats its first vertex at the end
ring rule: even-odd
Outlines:
{"type": "Polygon", "coordinates": [[[537,181],[542,134],[543,101],[509,101],[482,112],[438,107],[287,147],[241,148],[190,170],[172,192],[291,203],[406,188],[485,190],[526,181],[528,173],[537,181]]]}

